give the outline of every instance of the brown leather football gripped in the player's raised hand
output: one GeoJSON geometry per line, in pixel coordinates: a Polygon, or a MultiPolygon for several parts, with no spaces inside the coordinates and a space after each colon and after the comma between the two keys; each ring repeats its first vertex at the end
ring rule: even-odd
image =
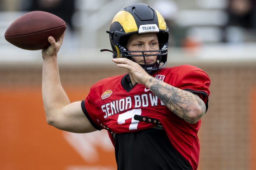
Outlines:
{"type": "Polygon", "coordinates": [[[44,11],[32,11],[11,23],[4,37],[19,48],[38,50],[50,45],[49,36],[53,36],[58,41],[66,27],[65,21],[56,15],[44,11]]]}

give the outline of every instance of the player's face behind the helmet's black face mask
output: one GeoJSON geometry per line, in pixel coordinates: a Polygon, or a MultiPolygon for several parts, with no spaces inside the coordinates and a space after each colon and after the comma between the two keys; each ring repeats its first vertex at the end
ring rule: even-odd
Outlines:
{"type": "MultiPolygon", "coordinates": [[[[159,43],[156,33],[132,34],[126,45],[129,51],[151,51],[159,50],[159,43]]],[[[158,54],[159,52],[145,52],[145,55],[158,54]]],[[[131,52],[131,55],[142,55],[141,52],[131,52]]],[[[132,57],[139,64],[144,64],[143,56],[132,57]]],[[[153,64],[157,60],[157,56],[146,56],[146,64],[153,64]]]]}

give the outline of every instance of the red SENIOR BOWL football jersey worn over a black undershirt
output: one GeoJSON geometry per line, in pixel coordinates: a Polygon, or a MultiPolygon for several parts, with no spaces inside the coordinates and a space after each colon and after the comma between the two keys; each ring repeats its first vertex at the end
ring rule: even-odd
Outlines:
{"type": "MultiPolygon", "coordinates": [[[[158,119],[173,147],[195,170],[199,161],[199,120],[190,124],[170,111],[160,99],[144,85],[136,84],[132,89],[122,84],[125,75],[110,77],[97,82],[85,99],[89,120],[96,129],[107,129],[114,133],[129,133],[156,126],[139,122],[134,115],[158,119]]],[[[196,93],[207,106],[210,95],[210,78],[201,69],[182,65],[164,68],[152,75],[160,81],[177,88],[196,93]]],[[[109,135],[114,144],[113,136],[109,135]]]]}

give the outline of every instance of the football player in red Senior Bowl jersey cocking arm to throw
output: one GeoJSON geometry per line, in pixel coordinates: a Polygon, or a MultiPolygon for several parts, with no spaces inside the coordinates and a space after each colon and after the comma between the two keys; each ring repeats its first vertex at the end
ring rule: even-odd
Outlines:
{"type": "Polygon", "coordinates": [[[107,31],[113,62],[125,75],[97,82],[83,101],[70,103],[58,72],[58,42],[49,37],[43,56],[43,103],[47,122],[88,133],[106,129],[119,170],[196,170],[198,130],[207,111],[210,79],[201,69],[164,68],[168,28],[146,4],[127,5],[107,31]]]}

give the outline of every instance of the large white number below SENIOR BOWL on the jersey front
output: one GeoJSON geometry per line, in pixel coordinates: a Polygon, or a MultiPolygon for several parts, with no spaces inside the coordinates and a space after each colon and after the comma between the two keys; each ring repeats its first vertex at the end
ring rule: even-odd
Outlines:
{"type": "Polygon", "coordinates": [[[132,122],[129,126],[129,130],[136,130],[138,127],[139,121],[136,121],[134,119],[134,115],[141,115],[141,109],[132,109],[118,115],[117,123],[120,125],[122,123],[125,123],[127,119],[132,118],[132,122]]]}

